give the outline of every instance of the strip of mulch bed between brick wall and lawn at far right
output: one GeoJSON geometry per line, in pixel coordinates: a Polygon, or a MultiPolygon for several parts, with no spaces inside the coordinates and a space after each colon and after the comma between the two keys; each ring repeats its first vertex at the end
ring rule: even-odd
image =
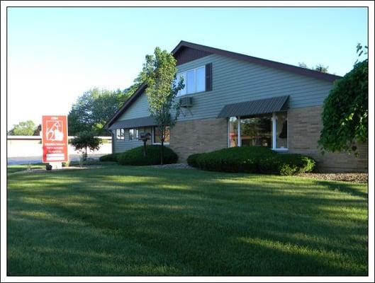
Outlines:
{"type": "Polygon", "coordinates": [[[301,173],[298,176],[316,180],[334,180],[362,184],[366,184],[369,181],[368,173],[301,173]]]}

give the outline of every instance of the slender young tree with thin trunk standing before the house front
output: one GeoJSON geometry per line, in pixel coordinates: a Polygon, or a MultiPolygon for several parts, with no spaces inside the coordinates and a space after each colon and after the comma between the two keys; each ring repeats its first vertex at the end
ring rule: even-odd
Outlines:
{"type": "Polygon", "coordinates": [[[180,113],[180,105],[175,102],[177,93],[184,88],[184,81],[176,80],[176,59],[167,50],[155,48],[154,54],[146,55],[141,73],[142,81],[147,83],[146,94],[150,115],[154,117],[159,131],[162,148],[160,163],[163,164],[164,140],[167,128],[172,129],[180,113]],[[172,113],[172,110],[174,113],[172,113]]]}

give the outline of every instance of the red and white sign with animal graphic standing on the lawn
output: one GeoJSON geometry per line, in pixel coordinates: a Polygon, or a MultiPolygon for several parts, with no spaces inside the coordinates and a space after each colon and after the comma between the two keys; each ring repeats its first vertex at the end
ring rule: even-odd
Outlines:
{"type": "Polygon", "coordinates": [[[67,116],[42,117],[43,162],[68,161],[67,116]]]}

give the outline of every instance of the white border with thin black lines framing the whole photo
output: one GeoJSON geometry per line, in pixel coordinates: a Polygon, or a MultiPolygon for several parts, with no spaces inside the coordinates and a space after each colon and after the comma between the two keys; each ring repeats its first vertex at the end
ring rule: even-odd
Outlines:
{"type": "MultiPolygon", "coordinates": [[[[50,1],[48,6],[171,6],[170,1],[50,1]]],[[[174,6],[364,6],[369,9],[369,93],[374,93],[374,2],[373,1],[176,1],[174,6]]],[[[1,43],[6,42],[6,6],[46,6],[45,1],[1,1],[1,43]]],[[[7,46],[1,48],[1,94],[6,93],[6,52],[7,46]]],[[[6,129],[6,96],[1,95],[1,129],[6,129]]],[[[374,96],[369,96],[369,274],[367,276],[218,276],[218,277],[152,277],[152,276],[118,276],[118,277],[42,277],[42,276],[7,276],[6,248],[1,248],[1,282],[374,282],[374,96]]],[[[6,135],[1,135],[1,187],[6,187],[6,135]]],[[[6,190],[1,190],[1,247],[6,247],[6,190]]]]}

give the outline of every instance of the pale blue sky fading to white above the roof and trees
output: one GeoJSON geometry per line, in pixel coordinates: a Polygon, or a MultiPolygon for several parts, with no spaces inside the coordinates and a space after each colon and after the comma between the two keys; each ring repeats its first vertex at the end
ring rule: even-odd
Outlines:
{"type": "Polygon", "coordinates": [[[124,89],[180,40],[344,75],[366,8],[8,8],[8,127],[67,115],[89,88],[124,89]]]}

